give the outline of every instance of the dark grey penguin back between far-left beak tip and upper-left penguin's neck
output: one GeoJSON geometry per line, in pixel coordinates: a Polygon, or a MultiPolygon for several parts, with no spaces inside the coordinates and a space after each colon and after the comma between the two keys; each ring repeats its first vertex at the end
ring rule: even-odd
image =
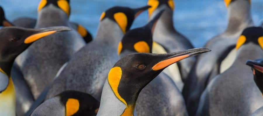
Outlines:
{"type": "Polygon", "coordinates": [[[29,18],[29,17],[21,17],[15,19],[12,23],[18,27],[34,28],[37,23],[37,19],[29,18]]]}

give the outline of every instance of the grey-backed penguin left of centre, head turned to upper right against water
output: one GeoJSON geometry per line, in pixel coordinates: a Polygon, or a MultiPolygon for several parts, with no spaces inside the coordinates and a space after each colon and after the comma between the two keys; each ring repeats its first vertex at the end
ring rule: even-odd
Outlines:
{"type": "Polygon", "coordinates": [[[113,7],[103,12],[94,41],[75,53],[51,84],[46,98],[65,90],[77,90],[100,100],[107,73],[119,59],[118,43],[134,19],[148,8],[113,7]]]}

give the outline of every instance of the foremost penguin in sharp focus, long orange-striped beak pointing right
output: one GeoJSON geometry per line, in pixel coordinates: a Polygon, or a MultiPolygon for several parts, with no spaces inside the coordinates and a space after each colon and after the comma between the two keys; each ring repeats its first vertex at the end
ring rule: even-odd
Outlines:
{"type": "Polygon", "coordinates": [[[122,57],[108,73],[97,116],[136,115],[133,111],[139,93],[164,68],[209,51],[207,48],[195,48],[167,54],[133,53],[122,57]]]}

